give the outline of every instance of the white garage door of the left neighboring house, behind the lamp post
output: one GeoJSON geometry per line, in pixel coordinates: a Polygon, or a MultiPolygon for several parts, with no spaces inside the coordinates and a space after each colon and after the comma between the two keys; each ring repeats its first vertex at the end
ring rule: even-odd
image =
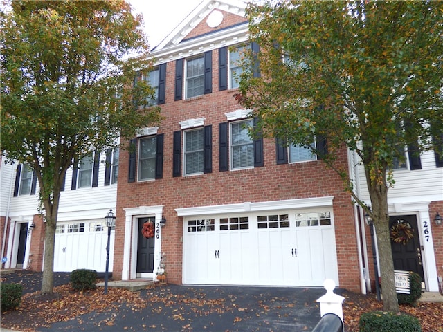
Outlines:
{"type": "MultiPolygon", "coordinates": [[[[55,229],[54,271],[71,272],[87,268],[105,272],[107,226],[105,221],[57,223],[55,229]]],[[[114,261],[114,230],[109,246],[109,271],[114,261]]]]}

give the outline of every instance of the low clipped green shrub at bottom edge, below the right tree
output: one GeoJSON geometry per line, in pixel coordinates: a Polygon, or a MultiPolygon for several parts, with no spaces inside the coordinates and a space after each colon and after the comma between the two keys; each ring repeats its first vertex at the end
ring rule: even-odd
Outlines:
{"type": "Polygon", "coordinates": [[[363,313],[359,322],[360,332],[421,332],[422,326],[416,317],[383,311],[363,313]]]}

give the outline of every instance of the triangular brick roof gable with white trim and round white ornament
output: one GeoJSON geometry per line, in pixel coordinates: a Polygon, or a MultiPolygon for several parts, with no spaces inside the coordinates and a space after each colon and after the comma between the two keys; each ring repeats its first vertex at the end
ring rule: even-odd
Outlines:
{"type": "Polygon", "coordinates": [[[176,46],[185,39],[246,22],[247,1],[204,0],[153,50],[176,46]]]}

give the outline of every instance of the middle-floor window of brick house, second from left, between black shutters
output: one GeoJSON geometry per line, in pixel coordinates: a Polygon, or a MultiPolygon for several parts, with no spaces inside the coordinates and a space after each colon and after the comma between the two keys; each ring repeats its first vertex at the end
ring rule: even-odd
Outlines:
{"type": "Polygon", "coordinates": [[[203,174],[204,132],[203,128],[184,132],[185,175],[203,174]]]}

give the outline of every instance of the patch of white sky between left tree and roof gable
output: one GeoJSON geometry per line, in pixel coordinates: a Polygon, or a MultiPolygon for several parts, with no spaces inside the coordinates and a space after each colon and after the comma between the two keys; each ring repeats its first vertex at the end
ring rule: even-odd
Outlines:
{"type": "Polygon", "coordinates": [[[202,0],[127,0],[141,12],[150,48],[157,46],[202,0]]]}

